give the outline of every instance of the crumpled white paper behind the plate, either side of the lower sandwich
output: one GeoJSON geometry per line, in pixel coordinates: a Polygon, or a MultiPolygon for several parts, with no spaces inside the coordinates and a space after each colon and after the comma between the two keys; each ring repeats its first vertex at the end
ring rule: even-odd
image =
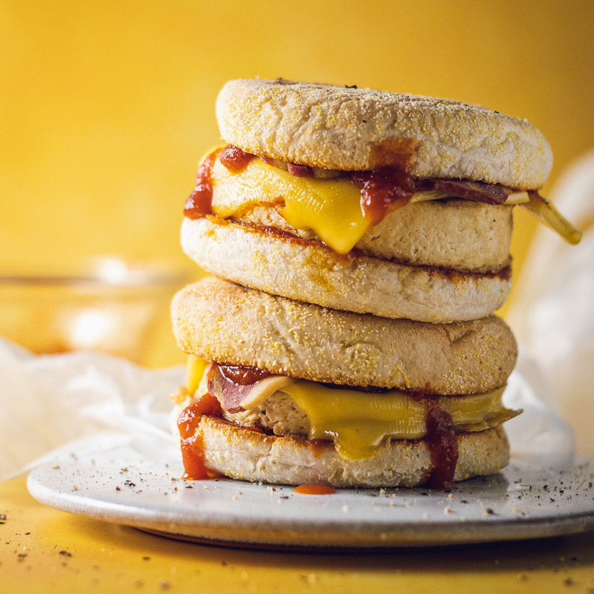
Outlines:
{"type": "MultiPolygon", "coordinates": [[[[513,453],[568,460],[571,429],[538,395],[534,364],[520,358],[504,400],[525,409],[506,424],[513,453]]],[[[0,339],[0,480],[45,460],[70,459],[121,445],[152,462],[177,460],[169,432],[169,394],[181,366],[150,370],[100,353],[33,355],[0,339]]]]}

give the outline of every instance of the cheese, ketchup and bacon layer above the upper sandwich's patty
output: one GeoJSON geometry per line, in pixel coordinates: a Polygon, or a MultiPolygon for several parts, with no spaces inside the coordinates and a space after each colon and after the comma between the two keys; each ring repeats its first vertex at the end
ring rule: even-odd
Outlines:
{"type": "Polygon", "coordinates": [[[347,254],[390,212],[419,201],[459,197],[494,206],[526,204],[568,241],[579,241],[579,232],[536,191],[469,180],[416,179],[395,168],[320,178],[311,168],[289,163],[285,170],[266,161],[230,145],[210,153],[198,169],[185,216],[241,217],[254,206],[267,205],[294,228],[310,229],[331,249],[347,254]]]}

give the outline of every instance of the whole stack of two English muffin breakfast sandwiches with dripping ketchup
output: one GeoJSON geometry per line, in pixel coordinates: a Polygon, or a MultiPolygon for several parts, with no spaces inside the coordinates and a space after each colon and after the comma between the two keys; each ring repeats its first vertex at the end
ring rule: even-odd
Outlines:
{"type": "Polygon", "coordinates": [[[235,80],[182,247],[214,277],[173,299],[186,478],[449,489],[509,459],[514,204],[538,194],[526,121],[450,100],[235,80]]]}

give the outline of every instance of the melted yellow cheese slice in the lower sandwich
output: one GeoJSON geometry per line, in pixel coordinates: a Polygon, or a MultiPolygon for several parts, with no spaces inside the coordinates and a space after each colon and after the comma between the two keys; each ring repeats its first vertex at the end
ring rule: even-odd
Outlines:
{"type": "MultiPolygon", "coordinates": [[[[504,388],[472,396],[441,396],[459,431],[483,431],[518,415],[501,403],[504,388]]],[[[391,439],[415,440],[426,435],[426,409],[399,390],[369,393],[330,388],[302,380],[282,391],[309,418],[310,439],[333,440],[340,456],[362,460],[387,448],[391,439]]]]}

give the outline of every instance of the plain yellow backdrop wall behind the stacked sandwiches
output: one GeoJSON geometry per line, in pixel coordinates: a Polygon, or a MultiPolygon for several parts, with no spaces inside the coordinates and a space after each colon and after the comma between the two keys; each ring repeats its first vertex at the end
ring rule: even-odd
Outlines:
{"type": "MultiPolygon", "coordinates": [[[[591,0],[5,0],[0,269],[105,253],[188,266],[181,207],[229,78],[481,103],[544,132],[554,180],[594,146],[593,24],[591,0]]],[[[517,273],[535,225],[516,223],[517,273]]],[[[151,364],[180,360],[167,328],[151,364]]]]}

